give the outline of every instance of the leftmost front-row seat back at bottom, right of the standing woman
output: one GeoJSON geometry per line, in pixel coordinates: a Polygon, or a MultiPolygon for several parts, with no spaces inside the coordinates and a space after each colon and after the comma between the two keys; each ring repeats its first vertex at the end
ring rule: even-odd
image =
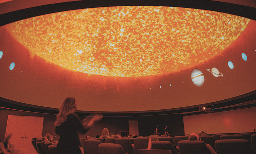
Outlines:
{"type": "Polygon", "coordinates": [[[123,147],[115,143],[101,143],[98,151],[99,154],[125,154],[123,147]]]}

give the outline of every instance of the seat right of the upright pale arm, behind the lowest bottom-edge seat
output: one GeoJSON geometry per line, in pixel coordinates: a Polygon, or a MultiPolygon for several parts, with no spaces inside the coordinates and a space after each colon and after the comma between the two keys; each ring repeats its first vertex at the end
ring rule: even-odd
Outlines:
{"type": "Polygon", "coordinates": [[[176,148],[172,146],[170,141],[152,141],[151,149],[155,150],[171,150],[172,154],[178,154],[176,148]]]}

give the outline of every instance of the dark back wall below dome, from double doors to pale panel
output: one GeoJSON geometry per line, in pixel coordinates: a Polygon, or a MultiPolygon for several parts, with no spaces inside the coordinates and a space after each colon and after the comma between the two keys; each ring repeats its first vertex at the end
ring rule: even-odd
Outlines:
{"type": "MultiPolygon", "coordinates": [[[[55,114],[43,114],[32,113],[23,111],[12,110],[0,110],[0,138],[4,140],[5,130],[7,125],[8,115],[20,115],[20,116],[37,116],[44,117],[43,136],[46,133],[53,135],[54,140],[59,139],[59,135],[55,134],[54,122],[56,120],[55,114]]],[[[103,115],[104,116],[104,115],[103,115]]],[[[80,117],[84,119],[85,117],[80,117]]],[[[95,123],[91,129],[84,135],[79,137],[85,137],[87,135],[101,135],[103,128],[108,128],[109,133],[120,134],[121,131],[127,131],[129,133],[129,120],[138,120],[139,122],[139,135],[149,136],[154,134],[154,130],[157,125],[159,133],[164,134],[164,127],[167,127],[167,131],[171,136],[184,135],[183,118],[179,114],[170,115],[158,115],[158,116],[140,116],[140,117],[104,117],[102,121],[95,123]]]]}

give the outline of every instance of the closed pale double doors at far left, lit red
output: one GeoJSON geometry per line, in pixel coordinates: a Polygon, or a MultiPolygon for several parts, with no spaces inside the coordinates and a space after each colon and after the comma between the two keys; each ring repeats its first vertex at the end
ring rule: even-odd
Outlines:
{"type": "Polygon", "coordinates": [[[37,153],[32,145],[32,138],[42,136],[44,117],[8,116],[6,133],[16,148],[25,148],[29,154],[37,153]]]}

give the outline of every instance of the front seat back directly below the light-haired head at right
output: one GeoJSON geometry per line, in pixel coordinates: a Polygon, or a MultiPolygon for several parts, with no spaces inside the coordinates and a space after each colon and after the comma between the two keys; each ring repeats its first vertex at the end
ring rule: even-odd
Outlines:
{"type": "Polygon", "coordinates": [[[211,154],[204,141],[179,141],[180,154],[211,154]]]}

